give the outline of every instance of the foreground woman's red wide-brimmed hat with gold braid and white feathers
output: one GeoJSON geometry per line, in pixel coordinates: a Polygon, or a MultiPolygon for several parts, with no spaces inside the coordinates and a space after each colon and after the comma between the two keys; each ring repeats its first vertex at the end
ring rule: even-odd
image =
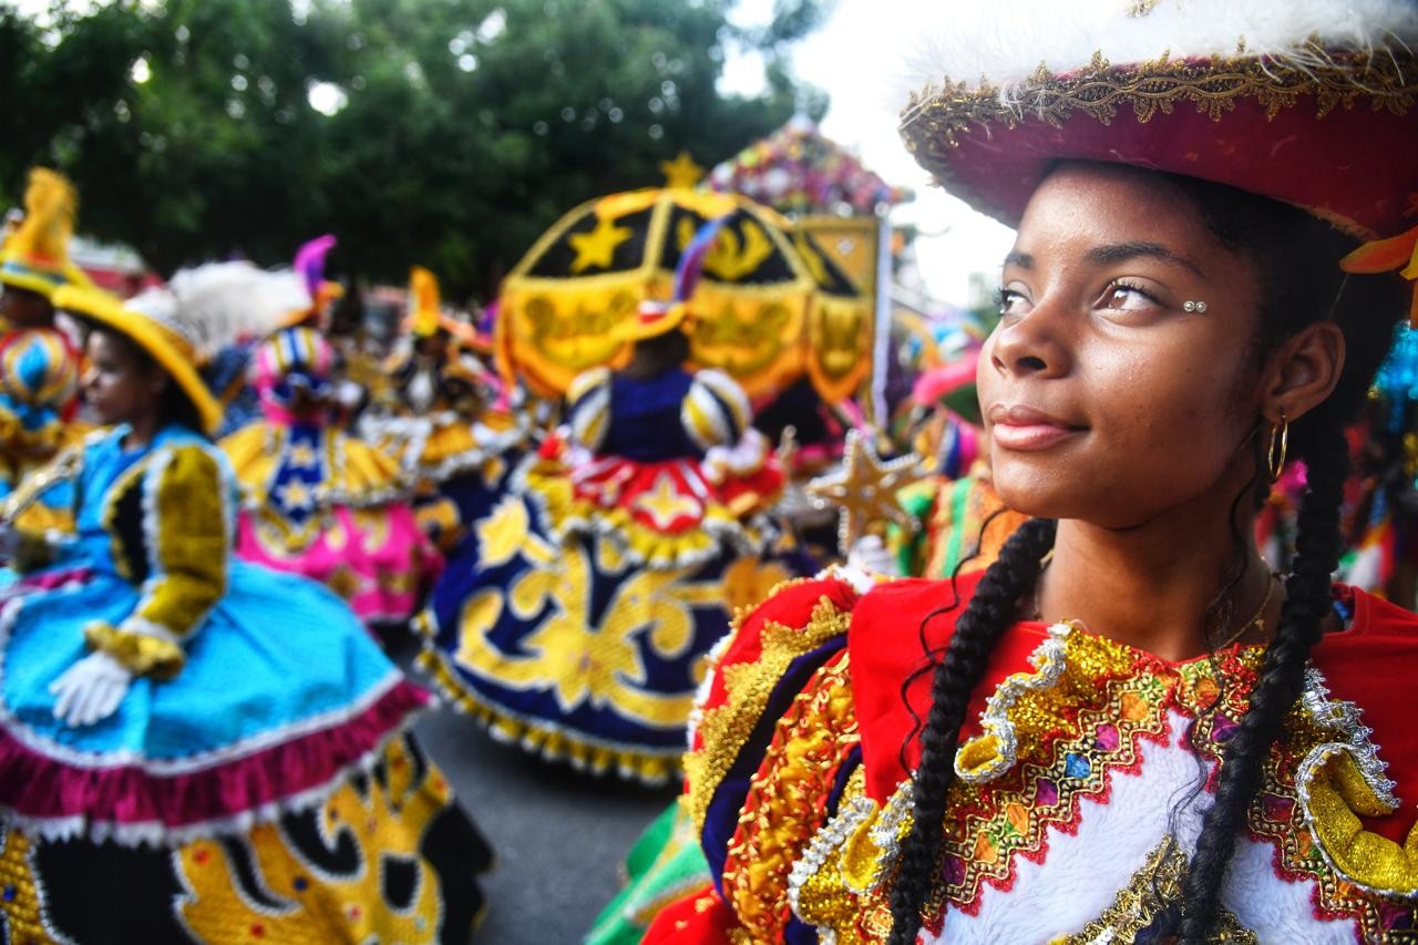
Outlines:
{"type": "Polygon", "coordinates": [[[1346,270],[1418,278],[1411,0],[971,6],[949,4],[902,114],[970,206],[1017,226],[1054,162],[1126,163],[1296,204],[1371,241],[1346,270]]]}

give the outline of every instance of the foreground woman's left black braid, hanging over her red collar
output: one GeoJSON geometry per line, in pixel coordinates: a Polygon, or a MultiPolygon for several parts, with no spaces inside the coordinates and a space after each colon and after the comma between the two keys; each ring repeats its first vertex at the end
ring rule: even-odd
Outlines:
{"type": "Polygon", "coordinates": [[[956,744],[966,721],[970,694],[984,677],[995,643],[1015,620],[1022,597],[1039,578],[1039,562],[1054,546],[1051,519],[1031,519],[1004,543],[1000,558],[980,578],[974,596],[956,621],[946,656],[930,682],[930,712],[920,735],[920,765],[915,775],[915,827],[902,841],[900,870],[892,887],[892,938],[905,945],[916,938],[920,908],[930,897],[940,853],[946,793],[956,779],[956,744]],[[925,829],[917,829],[925,826],[925,829]]]}

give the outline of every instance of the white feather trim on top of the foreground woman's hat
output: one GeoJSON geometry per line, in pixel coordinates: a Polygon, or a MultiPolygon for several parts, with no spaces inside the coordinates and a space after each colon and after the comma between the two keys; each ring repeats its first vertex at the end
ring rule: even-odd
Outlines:
{"type": "MultiPolygon", "coordinates": [[[[919,17],[917,17],[919,18],[919,17]]],[[[1418,47],[1412,0],[947,0],[915,24],[898,101],[949,78],[1000,88],[1039,65],[1068,72],[1095,52],[1116,65],[1268,55],[1306,62],[1326,50],[1418,47]]]]}

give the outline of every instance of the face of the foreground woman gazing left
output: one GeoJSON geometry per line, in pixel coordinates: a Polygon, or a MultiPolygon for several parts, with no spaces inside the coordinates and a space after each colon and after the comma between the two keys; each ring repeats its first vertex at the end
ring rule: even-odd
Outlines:
{"type": "Polygon", "coordinates": [[[1005,502],[1132,528],[1236,495],[1261,403],[1258,277],[1185,192],[1061,166],[1025,209],[1001,287],[977,379],[1005,502]]]}

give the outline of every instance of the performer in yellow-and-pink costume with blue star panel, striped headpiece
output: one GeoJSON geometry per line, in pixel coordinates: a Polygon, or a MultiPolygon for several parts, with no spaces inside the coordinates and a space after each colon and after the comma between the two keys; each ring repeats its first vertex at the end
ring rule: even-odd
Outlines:
{"type": "Polygon", "coordinates": [[[237,555],[326,585],[369,624],[401,623],[442,558],[406,502],[394,460],[325,426],[326,410],[291,411],[296,387],[325,396],[332,360],[309,328],[288,328],[257,349],[265,420],[221,441],[242,491],[237,555]]]}

